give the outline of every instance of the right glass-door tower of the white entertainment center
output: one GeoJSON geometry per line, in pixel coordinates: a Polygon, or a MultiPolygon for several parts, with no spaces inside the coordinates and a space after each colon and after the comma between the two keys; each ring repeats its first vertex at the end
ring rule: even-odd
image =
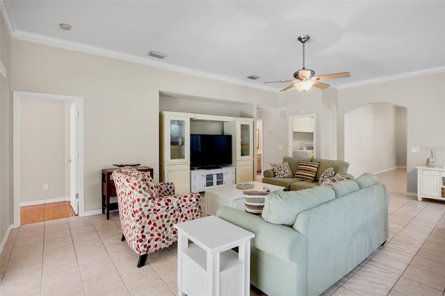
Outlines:
{"type": "Polygon", "coordinates": [[[236,183],[253,181],[253,118],[225,122],[224,133],[233,136],[232,165],[236,167],[236,183]]]}

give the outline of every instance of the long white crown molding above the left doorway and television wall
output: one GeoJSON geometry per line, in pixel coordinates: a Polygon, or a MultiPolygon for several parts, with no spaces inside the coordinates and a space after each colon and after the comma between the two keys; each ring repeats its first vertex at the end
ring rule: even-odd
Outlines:
{"type": "Polygon", "coordinates": [[[158,60],[153,60],[152,58],[143,58],[140,56],[134,56],[131,54],[123,54],[119,51],[113,51],[110,49],[104,49],[102,47],[93,47],[87,44],[81,44],[77,42],[70,42],[66,40],[60,40],[58,38],[51,38],[45,35],[39,35],[35,33],[29,33],[26,31],[16,30],[13,34],[11,34],[11,38],[29,42],[35,42],[40,44],[49,45],[52,47],[60,47],[63,49],[69,49],[73,51],[80,51],[86,54],[94,54],[96,56],[104,56],[106,58],[114,58],[116,60],[124,60],[131,63],[137,63],[140,65],[146,65],[149,67],[156,67],[160,69],[165,69],[172,72],[179,72],[182,74],[188,74],[192,76],[199,76],[202,78],[213,79],[217,81],[224,81],[227,83],[234,83],[238,85],[248,86],[250,88],[259,88],[261,90],[268,90],[272,92],[277,92],[274,88],[270,88],[266,85],[258,85],[257,83],[248,83],[245,81],[241,81],[238,79],[231,79],[226,76],[220,76],[215,74],[210,74],[207,72],[197,71],[195,69],[190,69],[186,67],[179,67],[175,65],[171,65],[168,63],[160,62],[158,60]]]}

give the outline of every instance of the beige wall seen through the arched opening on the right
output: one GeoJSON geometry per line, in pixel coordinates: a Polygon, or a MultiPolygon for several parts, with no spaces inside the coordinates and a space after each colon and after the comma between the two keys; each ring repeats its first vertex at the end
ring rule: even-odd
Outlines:
{"type": "Polygon", "coordinates": [[[354,176],[406,167],[407,108],[373,103],[345,113],[344,151],[354,176]]]}

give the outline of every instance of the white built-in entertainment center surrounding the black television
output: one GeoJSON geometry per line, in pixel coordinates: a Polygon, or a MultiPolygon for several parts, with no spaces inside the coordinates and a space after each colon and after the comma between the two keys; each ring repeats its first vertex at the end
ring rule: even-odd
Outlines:
{"type": "MultiPolygon", "coordinates": [[[[160,114],[161,181],[175,183],[176,192],[200,191],[207,187],[207,181],[202,183],[204,179],[198,177],[198,170],[190,170],[191,120],[220,122],[223,126],[223,134],[232,135],[232,167],[223,167],[223,169],[232,170],[233,176],[230,176],[230,173],[224,174],[223,184],[253,181],[253,118],[168,111],[160,114]]],[[[212,186],[223,185],[219,173],[207,170],[206,179],[207,175],[209,178],[210,175],[213,176],[212,186]]],[[[211,181],[208,184],[210,183],[211,181]]]]}

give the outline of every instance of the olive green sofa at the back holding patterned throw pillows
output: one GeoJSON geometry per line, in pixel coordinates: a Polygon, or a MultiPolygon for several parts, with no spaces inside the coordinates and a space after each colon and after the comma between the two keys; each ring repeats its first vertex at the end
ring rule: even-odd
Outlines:
{"type": "Polygon", "coordinates": [[[270,169],[263,172],[263,183],[283,186],[285,191],[314,188],[318,186],[318,179],[320,179],[321,174],[323,174],[323,172],[329,167],[333,167],[336,173],[339,172],[343,176],[346,176],[348,179],[354,179],[353,175],[348,174],[349,163],[346,161],[332,161],[330,159],[323,158],[314,158],[311,160],[311,158],[299,159],[290,156],[284,156],[283,163],[285,161],[289,163],[289,167],[291,167],[293,176],[295,176],[295,173],[297,171],[298,161],[313,161],[319,163],[315,181],[307,182],[301,181],[300,179],[296,178],[277,178],[273,170],[270,169]]]}

